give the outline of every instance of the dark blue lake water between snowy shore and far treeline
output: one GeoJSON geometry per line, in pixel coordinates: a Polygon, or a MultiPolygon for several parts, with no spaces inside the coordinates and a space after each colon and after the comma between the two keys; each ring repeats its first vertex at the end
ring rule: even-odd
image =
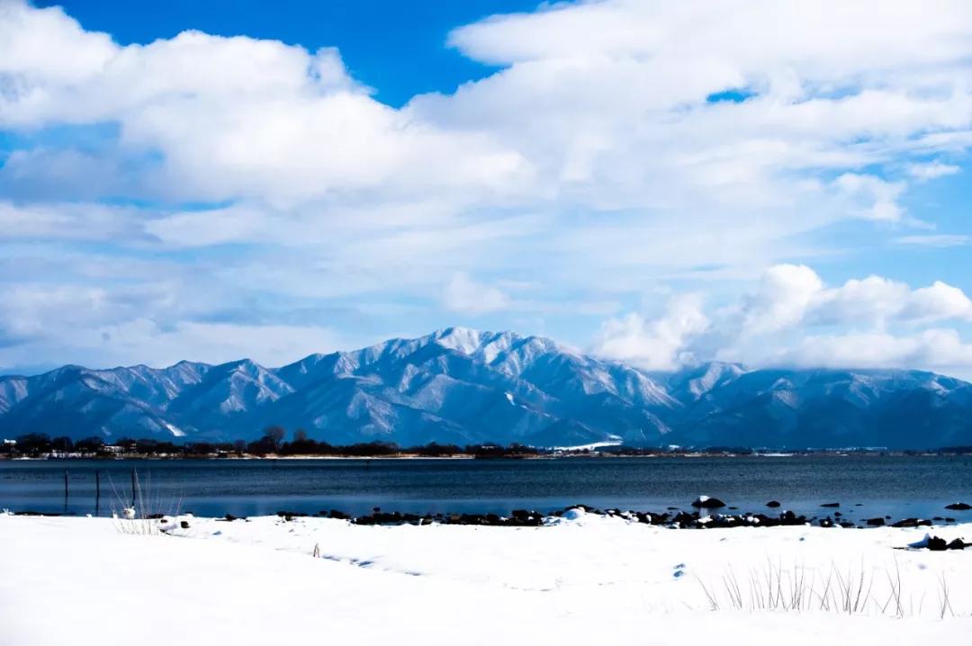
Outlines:
{"type": "Polygon", "coordinates": [[[576,503],[664,511],[687,509],[705,493],[741,511],[765,511],[776,499],[783,509],[822,517],[835,510],[821,503],[840,502],[839,511],[857,521],[890,515],[972,522],[970,512],[944,509],[972,503],[970,457],[14,460],[0,461],[0,508],[110,515],[130,501],[132,469],[145,507],[198,516],[361,514],[373,507],[504,514],[576,503]]]}

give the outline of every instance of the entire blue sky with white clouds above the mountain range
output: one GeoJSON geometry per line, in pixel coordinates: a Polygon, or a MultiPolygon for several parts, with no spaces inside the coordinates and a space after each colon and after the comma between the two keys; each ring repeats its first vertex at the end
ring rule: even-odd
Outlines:
{"type": "Polygon", "coordinates": [[[972,378],[972,4],[0,0],[0,372],[450,325],[972,378]]]}

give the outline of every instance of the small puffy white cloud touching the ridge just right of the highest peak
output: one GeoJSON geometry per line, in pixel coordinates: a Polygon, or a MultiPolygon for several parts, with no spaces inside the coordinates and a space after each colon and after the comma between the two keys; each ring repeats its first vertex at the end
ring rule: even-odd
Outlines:
{"type": "Polygon", "coordinates": [[[665,313],[657,319],[646,320],[631,313],[608,320],[601,327],[594,352],[646,370],[674,370],[693,360],[686,347],[708,327],[701,299],[694,294],[681,294],[669,301],[665,313]]]}

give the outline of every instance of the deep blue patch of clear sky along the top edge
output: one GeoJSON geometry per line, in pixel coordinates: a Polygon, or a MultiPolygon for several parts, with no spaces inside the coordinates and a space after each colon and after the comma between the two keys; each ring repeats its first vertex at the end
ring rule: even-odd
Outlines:
{"type": "Polygon", "coordinates": [[[72,0],[37,3],[62,7],[86,29],[110,33],[121,45],[148,44],[187,29],[219,36],[252,36],[308,50],[336,47],[348,71],[374,97],[400,106],[415,94],[451,92],[496,71],[446,46],[456,26],[494,14],[528,12],[537,2],[463,0],[252,0],[118,3],[72,0]]]}

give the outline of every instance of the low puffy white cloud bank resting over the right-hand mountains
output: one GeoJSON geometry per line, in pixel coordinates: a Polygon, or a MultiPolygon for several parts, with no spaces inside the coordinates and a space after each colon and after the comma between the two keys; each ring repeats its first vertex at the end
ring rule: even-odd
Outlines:
{"type": "Polygon", "coordinates": [[[936,281],[912,289],[880,276],[827,287],[805,265],[769,268],[757,289],[718,308],[693,298],[655,320],[605,323],[594,351],[649,369],[704,358],[801,367],[972,368],[972,345],[941,323],[972,322],[972,300],[936,281]],[[707,338],[706,332],[712,332],[707,338]],[[708,357],[706,356],[708,353],[708,357]]]}

